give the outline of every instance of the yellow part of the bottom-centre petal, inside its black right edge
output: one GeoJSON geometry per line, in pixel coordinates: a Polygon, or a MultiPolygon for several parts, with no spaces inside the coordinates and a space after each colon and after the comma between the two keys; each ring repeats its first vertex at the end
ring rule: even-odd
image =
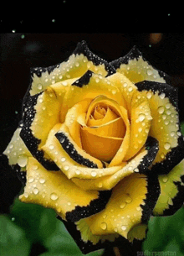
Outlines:
{"type": "MultiPolygon", "coordinates": [[[[145,175],[134,174],[121,180],[113,189],[105,209],[76,222],[78,229],[80,223],[85,222],[94,236],[118,233],[127,238],[130,229],[141,223],[141,204],[144,205],[146,200],[146,185],[145,175]]],[[[83,230],[79,229],[79,231],[83,233],[83,230]]],[[[88,239],[93,243],[93,238],[88,239]]]]}

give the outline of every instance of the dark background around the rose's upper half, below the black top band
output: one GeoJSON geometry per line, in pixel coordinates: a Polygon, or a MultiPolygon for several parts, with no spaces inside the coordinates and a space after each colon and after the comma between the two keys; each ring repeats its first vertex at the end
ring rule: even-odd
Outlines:
{"type": "MultiPolygon", "coordinates": [[[[48,23],[54,29],[58,20],[51,18],[48,23]]],[[[184,121],[184,34],[23,33],[25,28],[25,22],[19,20],[8,27],[9,33],[0,34],[0,134],[3,135],[0,153],[21,118],[30,68],[64,61],[81,40],[85,40],[96,55],[108,61],[126,55],[136,45],[151,65],[172,77],[173,86],[178,87],[180,118],[184,121]]]]}

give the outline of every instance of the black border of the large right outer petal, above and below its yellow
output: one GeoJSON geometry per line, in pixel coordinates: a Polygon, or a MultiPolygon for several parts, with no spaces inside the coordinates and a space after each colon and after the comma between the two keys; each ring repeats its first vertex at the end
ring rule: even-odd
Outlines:
{"type": "MultiPolygon", "coordinates": [[[[176,107],[178,112],[178,99],[176,88],[169,86],[165,83],[160,83],[156,81],[141,81],[136,83],[138,91],[149,91],[156,93],[159,91],[158,95],[162,92],[166,94],[169,98],[171,104],[176,107]]],[[[179,125],[179,123],[177,123],[179,125]]],[[[181,132],[181,128],[178,128],[178,132],[181,132]]],[[[161,163],[156,163],[152,166],[151,171],[157,175],[168,174],[176,165],[178,165],[182,159],[184,159],[184,138],[181,135],[177,140],[178,146],[172,148],[169,153],[166,154],[165,159],[161,163]]]]}

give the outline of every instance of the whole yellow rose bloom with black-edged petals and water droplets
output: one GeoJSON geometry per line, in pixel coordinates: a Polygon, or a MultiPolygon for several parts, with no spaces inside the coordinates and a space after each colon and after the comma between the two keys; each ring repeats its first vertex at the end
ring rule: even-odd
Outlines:
{"type": "Polygon", "coordinates": [[[108,63],[82,41],[33,68],[23,117],[4,154],[20,201],[53,208],[83,253],[146,238],[151,215],[183,203],[177,91],[134,47],[108,63]]]}

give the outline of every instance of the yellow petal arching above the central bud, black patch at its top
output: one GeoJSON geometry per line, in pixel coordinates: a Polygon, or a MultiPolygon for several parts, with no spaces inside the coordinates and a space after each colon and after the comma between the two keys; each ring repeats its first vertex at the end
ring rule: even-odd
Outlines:
{"type": "Polygon", "coordinates": [[[64,118],[69,108],[86,98],[95,99],[95,97],[104,95],[105,97],[114,99],[116,102],[120,103],[120,105],[125,106],[125,100],[123,99],[120,90],[115,83],[109,81],[108,77],[105,78],[92,71],[87,71],[84,76],[79,78],[79,80],[74,81],[64,97],[61,112],[62,122],[64,122],[64,118]]]}

